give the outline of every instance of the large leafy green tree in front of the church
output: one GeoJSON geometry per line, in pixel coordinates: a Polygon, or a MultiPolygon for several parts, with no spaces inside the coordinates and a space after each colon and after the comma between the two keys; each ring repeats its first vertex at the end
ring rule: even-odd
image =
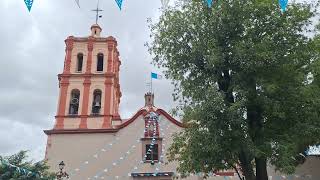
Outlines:
{"type": "Polygon", "coordinates": [[[180,0],[151,25],[149,50],[175,84],[188,128],[169,159],[188,173],[293,173],[320,139],[317,4],[180,0]]]}

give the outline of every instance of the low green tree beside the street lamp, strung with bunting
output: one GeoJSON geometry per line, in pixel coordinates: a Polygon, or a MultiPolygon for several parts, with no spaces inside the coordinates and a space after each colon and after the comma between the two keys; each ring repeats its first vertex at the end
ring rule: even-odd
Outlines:
{"type": "Polygon", "coordinates": [[[20,151],[8,157],[0,156],[0,180],[53,180],[55,178],[55,175],[48,171],[49,167],[44,161],[33,163],[26,158],[27,151],[20,151]]]}

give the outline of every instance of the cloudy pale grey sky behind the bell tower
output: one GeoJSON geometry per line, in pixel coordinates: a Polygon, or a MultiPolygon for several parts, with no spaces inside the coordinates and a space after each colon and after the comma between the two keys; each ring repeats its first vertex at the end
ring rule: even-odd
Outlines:
{"type": "MultiPolygon", "coordinates": [[[[44,129],[54,124],[58,101],[57,74],[62,72],[64,40],[69,35],[88,36],[95,21],[96,0],[34,0],[31,12],[23,0],[0,0],[0,155],[30,150],[44,157],[44,129]]],[[[100,0],[102,36],[114,36],[122,65],[120,84],[122,118],[144,105],[150,64],[144,43],[149,41],[147,18],[157,20],[160,0],[125,0],[120,11],[114,0],[100,0]]],[[[154,81],[155,104],[174,107],[169,80],[154,81]]]]}

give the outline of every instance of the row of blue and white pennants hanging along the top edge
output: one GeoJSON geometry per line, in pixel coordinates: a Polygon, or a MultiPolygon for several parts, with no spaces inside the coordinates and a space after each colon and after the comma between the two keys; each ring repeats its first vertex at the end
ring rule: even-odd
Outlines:
{"type": "MultiPolygon", "coordinates": [[[[212,7],[213,0],[204,0],[209,8],[212,7]]],[[[80,0],[75,0],[77,6],[80,8],[80,0]]],[[[119,7],[120,11],[122,9],[123,0],[115,0],[117,6],[119,7]]],[[[167,8],[170,0],[161,0],[161,4],[163,8],[167,8]]],[[[28,11],[31,11],[33,0],[24,0],[24,3],[27,6],[28,11]]],[[[284,12],[287,9],[288,6],[288,0],[279,0],[279,5],[281,10],[284,12]]]]}

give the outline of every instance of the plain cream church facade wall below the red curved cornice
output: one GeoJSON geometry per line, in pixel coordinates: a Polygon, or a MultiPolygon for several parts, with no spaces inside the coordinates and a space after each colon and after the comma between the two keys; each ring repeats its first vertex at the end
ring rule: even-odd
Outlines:
{"type": "MultiPolygon", "coordinates": [[[[142,143],[145,121],[139,116],[127,127],[117,133],[90,133],[90,134],[53,134],[51,146],[47,150],[47,157],[52,171],[58,171],[60,161],[66,164],[66,171],[70,179],[133,179],[131,173],[174,172],[176,162],[168,163],[165,156],[172,135],[181,130],[181,127],[167,120],[159,118],[160,137],[162,137],[162,155],[160,163],[151,165],[144,163],[142,143]],[[168,164],[166,164],[168,163],[168,164]]],[[[219,180],[222,177],[210,179],[219,180]]],[[[187,180],[199,179],[190,176],[187,180]]]]}

